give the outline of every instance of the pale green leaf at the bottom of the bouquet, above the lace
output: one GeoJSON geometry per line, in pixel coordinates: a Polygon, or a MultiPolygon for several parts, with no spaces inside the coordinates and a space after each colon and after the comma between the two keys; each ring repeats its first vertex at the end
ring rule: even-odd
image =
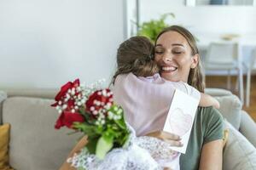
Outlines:
{"type": "Polygon", "coordinates": [[[103,159],[109,150],[113,147],[113,137],[108,135],[102,135],[96,144],[96,156],[99,159],[103,159]]]}

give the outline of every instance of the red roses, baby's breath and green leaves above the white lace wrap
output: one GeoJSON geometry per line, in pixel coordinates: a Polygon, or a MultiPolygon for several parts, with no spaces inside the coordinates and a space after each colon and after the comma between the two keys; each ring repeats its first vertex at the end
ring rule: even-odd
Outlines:
{"type": "Polygon", "coordinates": [[[123,109],[113,104],[110,89],[97,89],[101,84],[102,81],[98,81],[85,87],[79,79],[67,82],[52,106],[61,114],[55,128],[66,126],[84,133],[88,136],[86,149],[103,159],[109,150],[125,144],[130,131],[123,109]]]}

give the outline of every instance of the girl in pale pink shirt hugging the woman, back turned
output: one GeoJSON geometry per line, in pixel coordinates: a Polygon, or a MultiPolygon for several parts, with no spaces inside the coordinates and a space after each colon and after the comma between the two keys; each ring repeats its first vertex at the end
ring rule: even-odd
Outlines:
{"type": "MultiPolygon", "coordinates": [[[[118,69],[113,76],[113,100],[125,111],[125,120],[137,136],[163,129],[176,89],[200,100],[203,107],[219,107],[218,101],[185,82],[170,82],[160,77],[153,60],[154,45],[146,37],[131,37],[121,43],[118,69]]],[[[179,155],[172,161],[157,160],[162,167],[179,169],[179,155]]]]}

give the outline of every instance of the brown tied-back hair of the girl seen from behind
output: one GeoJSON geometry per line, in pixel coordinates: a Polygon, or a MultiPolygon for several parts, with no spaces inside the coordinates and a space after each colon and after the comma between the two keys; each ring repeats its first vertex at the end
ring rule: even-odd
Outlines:
{"type": "Polygon", "coordinates": [[[149,77],[159,72],[153,60],[154,44],[147,37],[131,37],[119,45],[117,52],[117,71],[112,83],[119,74],[132,72],[137,77],[149,77]]]}

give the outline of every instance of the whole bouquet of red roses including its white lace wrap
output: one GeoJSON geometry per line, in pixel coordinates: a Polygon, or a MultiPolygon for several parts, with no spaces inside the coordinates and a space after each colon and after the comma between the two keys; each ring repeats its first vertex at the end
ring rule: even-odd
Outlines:
{"type": "MultiPolygon", "coordinates": [[[[55,128],[68,127],[87,135],[88,143],[67,159],[72,167],[93,170],[158,170],[159,162],[177,157],[170,144],[151,137],[136,137],[125,122],[124,111],[113,103],[113,93],[102,81],[85,87],[79,79],[67,82],[51,106],[60,116],[55,128]]],[[[178,161],[177,161],[178,162],[178,161]]]]}

